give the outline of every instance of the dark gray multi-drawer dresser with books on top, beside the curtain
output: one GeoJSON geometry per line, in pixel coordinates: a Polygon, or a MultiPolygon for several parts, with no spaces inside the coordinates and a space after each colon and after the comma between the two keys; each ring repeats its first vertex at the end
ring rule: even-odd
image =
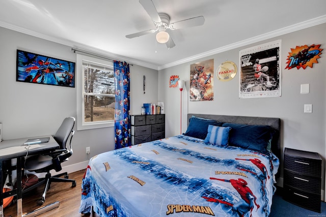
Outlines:
{"type": "Polygon", "coordinates": [[[165,138],[165,114],[131,115],[131,145],[165,138]]]}

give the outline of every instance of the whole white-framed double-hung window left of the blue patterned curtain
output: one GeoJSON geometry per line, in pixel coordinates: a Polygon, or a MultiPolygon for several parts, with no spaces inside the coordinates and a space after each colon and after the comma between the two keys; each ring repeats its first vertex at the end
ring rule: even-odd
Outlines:
{"type": "Polygon", "coordinates": [[[77,130],[113,127],[113,63],[77,54],[77,130]]]}

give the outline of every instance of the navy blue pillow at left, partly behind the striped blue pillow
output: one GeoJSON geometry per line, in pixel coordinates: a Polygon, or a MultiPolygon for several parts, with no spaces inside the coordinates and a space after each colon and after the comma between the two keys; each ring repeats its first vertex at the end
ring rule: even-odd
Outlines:
{"type": "Polygon", "coordinates": [[[191,117],[185,136],[191,136],[198,139],[205,139],[207,135],[208,125],[222,126],[221,122],[211,119],[203,119],[199,117],[191,117]]]}

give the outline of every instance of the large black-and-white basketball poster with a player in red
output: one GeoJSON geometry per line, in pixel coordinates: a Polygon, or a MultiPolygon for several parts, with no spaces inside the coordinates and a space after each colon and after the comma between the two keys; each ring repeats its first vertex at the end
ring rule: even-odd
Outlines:
{"type": "Polygon", "coordinates": [[[239,98],[281,96],[281,40],[239,51],[239,98]]]}

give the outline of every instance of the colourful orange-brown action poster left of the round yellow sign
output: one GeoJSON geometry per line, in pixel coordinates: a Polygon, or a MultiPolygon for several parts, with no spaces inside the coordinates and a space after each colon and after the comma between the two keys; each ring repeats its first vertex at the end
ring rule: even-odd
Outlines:
{"type": "Polygon", "coordinates": [[[190,101],[213,101],[214,59],[190,65],[190,101]]]}

